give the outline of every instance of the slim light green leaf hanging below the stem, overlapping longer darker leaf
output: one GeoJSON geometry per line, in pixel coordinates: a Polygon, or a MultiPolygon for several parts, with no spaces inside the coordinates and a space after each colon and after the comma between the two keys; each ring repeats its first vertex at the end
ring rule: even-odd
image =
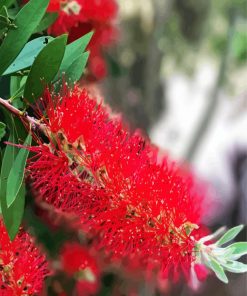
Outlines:
{"type": "MultiPolygon", "coordinates": [[[[24,146],[30,145],[31,141],[32,141],[32,137],[28,135],[24,143],[24,146]]],[[[20,191],[21,185],[23,183],[24,170],[25,170],[28,154],[29,154],[29,150],[22,148],[18,152],[16,159],[13,163],[13,166],[10,170],[8,180],[7,180],[7,190],[6,190],[7,207],[10,207],[10,205],[15,201],[18,195],[18,192],[20,191]]]]}

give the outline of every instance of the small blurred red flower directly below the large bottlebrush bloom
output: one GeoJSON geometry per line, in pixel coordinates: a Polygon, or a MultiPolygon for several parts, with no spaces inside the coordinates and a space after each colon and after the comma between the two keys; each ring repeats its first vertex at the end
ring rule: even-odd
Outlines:
{"type": "Polygon", "coordinates": [[[61,251],[61,267],[76,280],[78,295],[91,295],[99,289],[99,269],[88,250],[78,243],[67,243],[61,251]]]}

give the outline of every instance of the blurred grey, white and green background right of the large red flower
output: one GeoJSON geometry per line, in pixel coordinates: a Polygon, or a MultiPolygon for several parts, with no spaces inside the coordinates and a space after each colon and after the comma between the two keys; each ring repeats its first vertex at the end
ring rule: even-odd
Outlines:
{"type": "MultiPolygon", "coordinates": [[[[247,2],[118,2],[106,101],[212,185],[207,224],[247,224],[247,2]]],[[[232,275],[229,285],[212,277],[196,294],[247,295],[247,277],[232,275]]],[[[176,287],[169,295],[193,293],[176,287]]]]}

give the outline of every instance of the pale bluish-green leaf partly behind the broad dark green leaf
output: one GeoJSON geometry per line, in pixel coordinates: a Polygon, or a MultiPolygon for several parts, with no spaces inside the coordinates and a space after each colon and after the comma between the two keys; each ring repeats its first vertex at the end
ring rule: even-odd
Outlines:
{"type": "Polygon", "coordinates": [[[49,43],[53,38],[49,36],[43,36],[36,38],[28,42],[22,49],[18,57],[3,73],[3,75],[9,75],[20,70],[26,69],[32,65],[39,52],[49,43]]]}

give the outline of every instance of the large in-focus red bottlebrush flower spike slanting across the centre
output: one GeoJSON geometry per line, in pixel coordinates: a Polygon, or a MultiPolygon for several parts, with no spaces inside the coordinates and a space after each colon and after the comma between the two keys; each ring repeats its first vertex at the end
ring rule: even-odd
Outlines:
{"type": "Polygon", "coordinates": [[[204,188],[194,177],[77,86],[47,90],[38,113],[49,141],[30,148],[37,198],[76,214],[112,260],[189,278],[195,239],[204,234],[204,188]]]}

